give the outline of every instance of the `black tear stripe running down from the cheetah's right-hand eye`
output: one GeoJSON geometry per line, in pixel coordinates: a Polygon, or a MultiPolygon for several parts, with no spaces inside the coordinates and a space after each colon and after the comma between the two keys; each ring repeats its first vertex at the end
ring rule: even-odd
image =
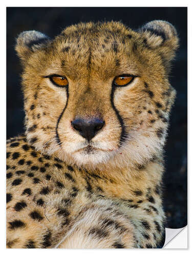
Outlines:
{"type": "Polygon", "coordinates": [[[110,96],[110,100],[111,100],[111,105],[112,105],[112,108],[113,110],[115,111],[116,115],[117,115],[117,118],[119,119],[119,122],[120,122],[120,125],[121,125],[121,136],[120,136],[120,145],[119,147],[121,147],[121,144],[122,142],[124,142],[127,138],[127,135],[126,135],[126,132],[125,132],[125,126],[124,126],[124,122],[123,122],[123,119],[122,117],[120,116],[119,114],[119,111],[115,108],[115,105],[114,105],[114,93],[115,93],[115,89],[116,89],[116,86],[115,84],[113,83],[112,84],[112,91],[111,91],[111,96],[110,96]]]}

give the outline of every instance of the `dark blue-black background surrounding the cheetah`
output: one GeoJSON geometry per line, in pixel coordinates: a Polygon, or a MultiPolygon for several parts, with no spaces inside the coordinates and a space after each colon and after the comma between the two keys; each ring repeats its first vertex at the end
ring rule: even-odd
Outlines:
{"type": "Polygon", "coordinates": [[[7,138],[24,132],[22,69],[14,51],[15,37],[37,30],[54,37],[71,24],[120,20],[137,29],[146,22],[163,19],[172,23],[180,37],[180,49],[170,74],[177,99],[170,118],[165,146],[164,209],[166,227],[187,224],[187,8],[185,7],[9,7],[7,8],[7,138]]]}

